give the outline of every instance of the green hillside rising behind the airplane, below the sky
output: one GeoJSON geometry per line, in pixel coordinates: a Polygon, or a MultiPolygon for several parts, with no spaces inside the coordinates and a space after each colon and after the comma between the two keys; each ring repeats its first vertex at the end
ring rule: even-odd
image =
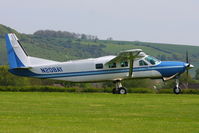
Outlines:
{"type": "MultiPolygon", "coordinates": [[[[0,25],[0,65],[7,64],[4,36],[10,32],[17,34],[29,55],[51,60],[66,61],[99,57],[117,54],[121,50],[140,48],[160,60],[179,61],[185,61],[185,53],[188,50],[190,61],[196,66],[195,69],[199,65],[199,47],[197,46],[98,40],[96,36],[49,30],[37,31],[34,34],[21,34],[4,25],[0,25]]],[[[192,74],[195,69],[192,70],[192,74]]]]}

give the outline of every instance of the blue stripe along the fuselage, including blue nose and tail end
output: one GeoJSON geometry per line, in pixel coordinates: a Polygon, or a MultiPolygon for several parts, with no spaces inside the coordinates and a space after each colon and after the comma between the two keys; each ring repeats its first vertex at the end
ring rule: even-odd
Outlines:
{"type": "MultiPolygon", "coordinates": [[[[156,66],[150,67],[136,67],[133,68],[134,72],[141,71],[158,71],[161,73],[162,77],[170,77],[176,73],[183,73],[185,71],[185,63],[183,62],[171,62],[162,61],[156,66]]],[[[102,74],[114,74],[114,73],[126,73],[129,72],[129,68],[123,69],[108,69],[108,70],[98,70],[98,71],[82,71],[82,72],[68,72],[68,73],[52,73],[52,74],[37,74],[31,72],[29,69],[10,69],[11,73],[20,76],[38,77],[38,78],[59,78],[59,77],[77,77],[77,76],[89,76],[89,75],[102,75],[102,74]]],[[[147,76],[147,75],[146,75],[147,76]]]]}

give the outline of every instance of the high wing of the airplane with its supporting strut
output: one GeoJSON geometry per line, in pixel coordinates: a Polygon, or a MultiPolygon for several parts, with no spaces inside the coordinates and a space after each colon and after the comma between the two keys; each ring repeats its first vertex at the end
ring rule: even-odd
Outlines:
{"type": "Polygon", "coordinates": [[[113,58],[112,60],[106,62],[105,65],[107,64],[111,64],[114,62],[120,62],[120,61],[128,61],[130,62],[129,65],[129,77],[132,77],[132,73],[133,73],[133,62],[136,58],[142,58],[145,56],[145,54],[141,54],[142,49],[131,49],[131,50],[125,50],[125,51],[121,51],[115,58],[113,58]]]}

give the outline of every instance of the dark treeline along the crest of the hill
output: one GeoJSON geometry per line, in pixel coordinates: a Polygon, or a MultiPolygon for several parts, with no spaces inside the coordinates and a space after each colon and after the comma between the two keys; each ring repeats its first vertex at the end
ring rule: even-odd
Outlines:
{"type": "Polygon", "coordinates": [[[98,40],[97,36],[72,33],[72,32],[68,32],[68,31],[39,30],[39,31],[36,31],[33,35],[40,36],[40,37],[98,40]]]}

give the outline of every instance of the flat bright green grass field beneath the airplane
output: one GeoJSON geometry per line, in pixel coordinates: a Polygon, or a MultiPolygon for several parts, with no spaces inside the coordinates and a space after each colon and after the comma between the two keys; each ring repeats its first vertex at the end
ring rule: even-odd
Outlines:
{"type": "Polygon", "coordinates": [[[0,92],[0,133],[198,133],[199,95],[0,92]]]}

